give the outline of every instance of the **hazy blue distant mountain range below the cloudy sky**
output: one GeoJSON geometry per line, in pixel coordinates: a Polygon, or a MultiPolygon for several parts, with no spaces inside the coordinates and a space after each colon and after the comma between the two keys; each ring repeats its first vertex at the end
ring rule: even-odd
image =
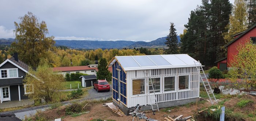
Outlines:
{"type": "MultiPolygon", "coordinates": [[[[167,37],[161,37],[151,42],[144,41],[91,41],[91,40],[54,40],[55,46],[67,46],[72,49],[97,49],[97,48],[164,48],[167,37]]],[[[180,36],[177,36],[180,42],[180,36]]],[[[11,45],[12,38],[0,38],[0,45],[11,45]]]]}

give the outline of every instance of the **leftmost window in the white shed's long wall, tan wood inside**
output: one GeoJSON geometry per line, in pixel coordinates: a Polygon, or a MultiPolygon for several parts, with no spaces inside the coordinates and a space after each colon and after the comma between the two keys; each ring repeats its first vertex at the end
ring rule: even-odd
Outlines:
{"type": "Polygon", "coordinates": [[[145,79],[132,80],[132,95],[145,94],[145,79]]]}

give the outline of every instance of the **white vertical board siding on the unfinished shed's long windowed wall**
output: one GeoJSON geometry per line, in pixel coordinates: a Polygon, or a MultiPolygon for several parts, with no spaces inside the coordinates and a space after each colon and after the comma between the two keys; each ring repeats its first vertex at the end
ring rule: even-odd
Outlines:
{"type": "MultiPolygon", "coordinates": [[[[161,91],[155,92],[157,102],[176,101],[181,99],[197,98],[199,97],[199,73],[196,67],[187,68],[167,68],[167,69],[150,69],[152,77],[160,77],[161,91]],[[177,90],[177,76],[189,75],[189,89],[177,90]],[[163,92],[163,78],[166,76],[176,76],[176,90],[163,92]]],[[[142,79],[144,77],[143,70],[127,71],[127,107],[134,107],[137,104],[150,105],[150,98],[147,94],[132,95],[132,79],[142,79]]],[[[145,91],[146,91],[145,82],[145,91]]],[[[150,96],[153,97],[152,94],[150,96]]]]}

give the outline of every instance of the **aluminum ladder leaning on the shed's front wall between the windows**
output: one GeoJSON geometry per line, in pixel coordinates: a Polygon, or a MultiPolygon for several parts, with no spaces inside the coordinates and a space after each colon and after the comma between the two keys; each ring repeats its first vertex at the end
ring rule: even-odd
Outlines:
{"type": "Polygon", "coordinates": [[[149,99],[150,99],[150,105],[152,107],[152,111],[154,112],[155,110],[158,110],[159,111],[159,108],[158,108],[158,103],[157,103],[157,97],[155,96],[155,90],[154,90],[154,86],[153,86],[153,83],[152,83],[152,79],[151,79],[151,76],[150,76],[150,73],[148,70],[143,71],[144,72],[144,76],[146,78],[146,82],[147,82],[147,95],[149,96],[149,99]],[[152,90],[149,90],[149,87],[152,87],[152,90]],[[150,95],[150,92],[153,92],[154,94],[154,99],[151,99],[151,95],[150,95]],[[153,104],[152,101],[155,101],[155,103],[153,104]],[[155,108],[154,108],[155,107],[155,108]]]}

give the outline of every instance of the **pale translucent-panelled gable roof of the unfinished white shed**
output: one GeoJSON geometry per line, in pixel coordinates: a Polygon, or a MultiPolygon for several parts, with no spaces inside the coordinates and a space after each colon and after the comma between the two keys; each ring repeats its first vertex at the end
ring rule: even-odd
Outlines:
{"type": "Polygon", "coordinates": [[[113,65],[118,61],[125,71],[195,67],[195,59],[187,54],[149,55],[149,56],[116,56],[110,62],[113,65]]]}

